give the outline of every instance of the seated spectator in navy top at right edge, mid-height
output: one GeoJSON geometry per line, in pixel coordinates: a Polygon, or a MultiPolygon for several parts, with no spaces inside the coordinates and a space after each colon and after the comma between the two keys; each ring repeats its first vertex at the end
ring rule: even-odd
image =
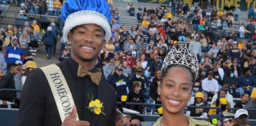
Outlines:
{"type": "Polygon", "coordinates": [[[248,92],[248,94],[251,94],[251,91],[256,85],[255,78],[251,76],[250,68],[245,68],[243,71],[243,75],[239,77],[239,95],[241,96],[245,92],[248,92]]]}

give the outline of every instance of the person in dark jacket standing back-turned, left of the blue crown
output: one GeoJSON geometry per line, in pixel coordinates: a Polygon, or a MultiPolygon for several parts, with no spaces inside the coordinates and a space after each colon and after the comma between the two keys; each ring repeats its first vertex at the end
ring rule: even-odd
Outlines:
{"type": "Polygon", "coordinates": [[[55,44],[57,37],[56,34],[52,31],[52,27],[48,26],[47,31],[44,33],[42,37],[42,43],[46,45],[46,57],[48,58],[48,61],[51,62],[52,59],[52,49],[55,44]]]}

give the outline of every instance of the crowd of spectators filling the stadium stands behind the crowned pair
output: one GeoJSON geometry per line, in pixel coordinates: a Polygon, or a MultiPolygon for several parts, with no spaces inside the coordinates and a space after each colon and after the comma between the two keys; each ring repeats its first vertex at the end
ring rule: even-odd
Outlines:
{"type": "MultiPolygon", "coordinates": [[[[212,3],[214,4],[214,3],[212,3]]],[[[219,109],[187,108],[186,114],[191,116],[223,117],[223,112],[231,109],[256,109],[256,43],[254,41],[255,7],[248,11],[249,24],[241,24],[239,32],[232,31],[232,25],[239,18],[240,9],[235,6],[225,6],[224,10],[215,10],[210,4],[208,9],[201,9],[199,1],[192,6],[183,2],[170,2],[170,6],[160,5],[151,8],[139,6],[134,8],[132,3],[127,6],[127,13],[137,18],[141,25],[127,29],[120,25],[120,15],[117,7],[110,7],[112,36],[105,43],[98,57],[97,71],[102,72],[106,80],[115,87],[117,101],[144,103],[154,101],[161,104],[159,95],[161,65],[165,55],[173,46],[182,49],[187,46],[197,54],[200,71],[195,82],[193,97],[188,106],[211,106],[219,109]],[[218,30],[230,27],[231,32],[217,41],[210,38],[209,29],[218,30]],[[236,38],[249,38],[249,41],[236,38]],[[182,43],[181,43],[182,42],[182,43]],[[183,44],[185,43],[185,44],[183,44]],[[127,100],[123,100],[127,96],[127,100]],[[234,102],[234,98],[241,100],[234,102]],[[208,103],[209,102],[209,103],[208,103]]],[[[28,19],[28,13],[59,15],[61,2],[29,1],[21,4],[19,18],[28,19]],[[47,10],[47,11],[46,11],[47,10]]],[[[25,22],[22,26],[9,25],[0,29],[0,88],[7,88],[7,81],[22,89],[25,77],[37,65],[29,49],[38,49],[38,41],[46,46],[46,56],[51,61],[56,52],[57,33],[54,23],[47,27],[40,36],[40,27],[36,21],[30,25],[25,22]],[[22,68],[25,67],[25,72],[22,68]],[[6,74],[7,72],[7,74],[6,74]],[[14,79],[13,79],[14,78],[14,79]],[[14,80],[14,81],[13,81],[14,80]]],[[[70,56],[70,46],[64,38],[61,41],[62,61],[70,56]]],[[[0,92],[1,93],[1,92],[0,92]]],[[[19,107],[20,93],[0,94],[0,106],[16,105],[19,107]],[[7,97],[8,96],[8,97],[7,97]],[[12,104],[15,101],[15,104],[12,104]]],[[[141,105],[126,105],[127,108],[146,113],[147,107],[141,105]]],[[[118,106],[123,112],[122,106],[118,106]]],[[[159,108],[159,107],[157,107],[159,108]]],[[[245,114],[255,119],[255,112],[245,114]]],[[[235,111],[232,111],[233,113],[235,111]]],[[[237,115],[237,116],[236,116],[237,115]]],[[[124,124],[140,125],[140,116],[116,114],[116,122],[123,120],[124,124]],[[134,119],[133,119],[134,118],[134,119]],[[128,120],[128,121],[127,121],[128,120]],[[133,122],[133,120],[136,120],[133,122]]],[[[210,120],[211,122],[212,120],[210,120]]],[[[233,122],[226,119],[224,122],[233,122]]],[[[123,124],[122,122],[122,124],[123,124]]]]}

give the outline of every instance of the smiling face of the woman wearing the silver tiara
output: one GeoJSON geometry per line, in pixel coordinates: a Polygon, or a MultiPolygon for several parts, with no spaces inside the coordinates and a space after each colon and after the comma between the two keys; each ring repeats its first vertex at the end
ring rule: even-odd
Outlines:
{"type": "Polygon", "coordinates": [[[182,67],[168,69],[161,80],[161,102],[164,113],[183,113],[188,100],[191,98],[192,81],[191,74],[182,67]],[[175,73],[175,74],[174,74],[175,73]]]}

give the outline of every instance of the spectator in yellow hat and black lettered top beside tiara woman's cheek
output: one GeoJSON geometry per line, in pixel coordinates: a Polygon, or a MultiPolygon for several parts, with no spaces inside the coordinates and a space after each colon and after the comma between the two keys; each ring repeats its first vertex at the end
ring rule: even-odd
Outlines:
{"type": "MultiPolygon", "coordinates": [[[[189,106],[207,106],[204,103],[204,94],[202,92],[196,92],[194,104],[189,106]]],[[[206,108],[189,108],[186,114],[189,116],[197,116],[201,118],[207,118],[208,109],[206,108]]]]}

